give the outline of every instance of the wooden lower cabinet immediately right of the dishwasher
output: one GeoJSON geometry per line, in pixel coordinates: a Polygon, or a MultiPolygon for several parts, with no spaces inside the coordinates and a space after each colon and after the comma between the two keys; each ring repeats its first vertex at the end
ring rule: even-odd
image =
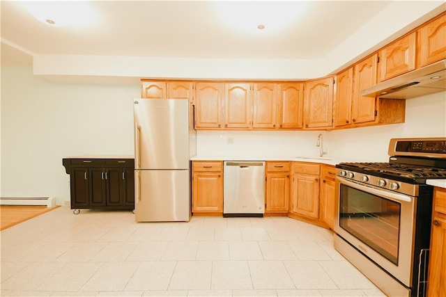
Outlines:
{"type": "Polygon", "coordinates": [[[286,215],[289,211],[290,197],[289,161],[266,162],[266,215],[286,215]]]}

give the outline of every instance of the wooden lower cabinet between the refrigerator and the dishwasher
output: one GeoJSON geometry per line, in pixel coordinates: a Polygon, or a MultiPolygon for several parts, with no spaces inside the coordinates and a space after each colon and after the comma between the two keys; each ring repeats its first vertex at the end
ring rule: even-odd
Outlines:
{"type": "Polygon", "coordinates": [[[223,161],[192,161],[192,214],[223,214],[223,161]]]}

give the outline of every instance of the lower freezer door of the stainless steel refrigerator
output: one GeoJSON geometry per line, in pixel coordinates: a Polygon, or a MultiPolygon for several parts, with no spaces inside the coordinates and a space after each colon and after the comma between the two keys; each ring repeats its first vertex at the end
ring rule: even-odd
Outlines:
{"type": "Polygon", "coordinates": [[[190,220],[189,170],[135,170],[137,222],[190,220]]]}

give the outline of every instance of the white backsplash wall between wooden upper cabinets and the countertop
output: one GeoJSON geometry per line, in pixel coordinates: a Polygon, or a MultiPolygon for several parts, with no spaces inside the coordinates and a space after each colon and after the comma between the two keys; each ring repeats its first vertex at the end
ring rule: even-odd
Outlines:
{"type": "Polygon", "coordinates": [[[319,133],[323,134],[327,156],[346,161],[388,161],[390,138],[446,137],[446,93],[406,100],[403,124],[336,131],[198,131],[197,154],[317,156],[319,133]]]}

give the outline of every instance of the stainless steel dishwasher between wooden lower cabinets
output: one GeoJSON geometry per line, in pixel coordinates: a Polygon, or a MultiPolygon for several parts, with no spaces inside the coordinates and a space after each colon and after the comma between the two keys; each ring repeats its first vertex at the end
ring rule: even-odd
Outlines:
{"type": "Polygon", "coordinates": [[[224,161],[223,216],[263,216],[265,161],[224,161]]]}

